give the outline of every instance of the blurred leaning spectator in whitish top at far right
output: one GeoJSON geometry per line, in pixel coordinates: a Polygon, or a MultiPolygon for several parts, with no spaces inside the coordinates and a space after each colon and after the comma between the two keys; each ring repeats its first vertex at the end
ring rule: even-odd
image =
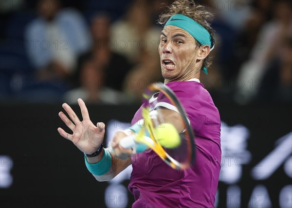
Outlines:
{"type": "MultiPolygon", "coordinates": [[[[264,87],[261,86],[261,82],[267,71],[269,71],[267,69],[275,59],[283,59],[282,43],[287,42],[284,41],[285,38],[292,36],[291,1],[279,0],[275,1],[274,4],[273,19],[261,28],[257,38],[258,44],[255,45],[250,59],[240,69],[238,79],[243,80],[245,84],[244,87],[238,89],[236,94],[236,100],[240,104],[252,101],[258,90],[264,87]]],[[[263,88],[262,90],[266,89],[263,88]]]]}

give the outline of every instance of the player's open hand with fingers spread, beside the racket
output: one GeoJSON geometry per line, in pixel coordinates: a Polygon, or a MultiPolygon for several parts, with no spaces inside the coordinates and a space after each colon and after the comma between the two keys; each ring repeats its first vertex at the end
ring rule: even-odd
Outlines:
{"type": "Polygon", "coordinates": [[[88,110],[83,100],[79,98],[78,104],[81,109],[82,121],[78,119],[68,104],[63,104],[62,106],[73,122],[63,112],[59,112],[59,117],[73,131],[73,134],[68,134],[62,128],[58,128],[58,132],[62,137],[72,141],[85,154],[92,154],[97,151],[104,139],[105,124],[98,122],[95,126],[89,118],[88,110]]]}

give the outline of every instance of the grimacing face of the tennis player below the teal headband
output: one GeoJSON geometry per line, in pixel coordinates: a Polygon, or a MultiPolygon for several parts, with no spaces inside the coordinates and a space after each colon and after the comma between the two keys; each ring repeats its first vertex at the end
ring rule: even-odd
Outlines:
{"type": "MultiPolygon", "coordinates": [[[[194,78],[198,63],[196,41],[185,30],[168,25],[160,36],[159,55],[164,79],[168,81],[186,81],[194,78]]],[[[199,68],[200,69],[200,68],[199,68]]]]}

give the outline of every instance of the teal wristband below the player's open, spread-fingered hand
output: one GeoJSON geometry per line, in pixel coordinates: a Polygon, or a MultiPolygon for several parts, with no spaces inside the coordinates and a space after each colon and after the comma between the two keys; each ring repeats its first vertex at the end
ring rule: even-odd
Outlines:
{"type": "Polygon", "coordinates": [[[89,163],[87,161],[86,156],[85,157],[85,165],[90,173],[93,175],[104,175],[109,172],[111,167],[111,156],[110,152],[107,149],[104,149],[104,155],[102,156],[102,159],[97,163],[89,163]]]}

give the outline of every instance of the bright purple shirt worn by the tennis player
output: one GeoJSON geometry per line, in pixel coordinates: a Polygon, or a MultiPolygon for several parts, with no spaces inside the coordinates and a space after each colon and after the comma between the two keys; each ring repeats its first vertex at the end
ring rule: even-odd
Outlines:
{"type": "MultiPolygon", "coordinates": [[[[175,92],[191,122],[196,136],[196,162],[181,171],[169,167],[152,150],[133,155],[128,185],[135,198],[132,208],[214,208],[221,161],[219,111],[199,82],[166,85],[175,92]]],[[[162,93],[157,100],[171,104],[162,93]]],[[[141,107],[133,121],[140,119],[141,107]]]]}

